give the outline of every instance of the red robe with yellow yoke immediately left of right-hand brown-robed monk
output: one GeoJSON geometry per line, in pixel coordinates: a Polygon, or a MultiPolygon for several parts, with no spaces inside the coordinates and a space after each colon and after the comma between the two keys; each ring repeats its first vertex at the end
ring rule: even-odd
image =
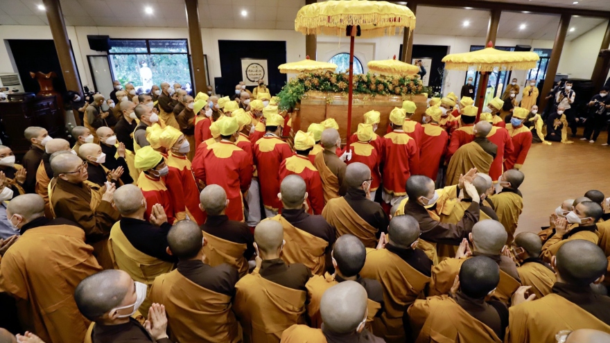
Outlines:
{"type": "Polygon", "coordinates": [[[422,127],[424,134],[419,149],[419,174],[436,181],[439,166],[447,151],[449,135],[437,123],[424,124],[422,127]]]}

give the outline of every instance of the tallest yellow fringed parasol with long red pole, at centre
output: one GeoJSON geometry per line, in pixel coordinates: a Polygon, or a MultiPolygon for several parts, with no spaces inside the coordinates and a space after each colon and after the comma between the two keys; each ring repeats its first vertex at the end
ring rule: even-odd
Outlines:
{"type": "MultiPolygon", "coordinates": [[[[415,15],[407,6],[387,1],[330,0],[303,6],[297,12],[295,30],[304,35],[349,36],[349,93],[347,137],[351,135],[351,102],[354,93],[354,38],[394,35],[396,29],[413,30],[415,15]]],[[[349,139],[348,139],[349,150],[349,139]]]]}

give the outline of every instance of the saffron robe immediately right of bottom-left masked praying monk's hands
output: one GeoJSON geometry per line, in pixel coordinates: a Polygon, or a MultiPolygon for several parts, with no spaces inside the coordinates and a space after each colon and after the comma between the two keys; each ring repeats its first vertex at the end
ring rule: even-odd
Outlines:
{"type": "Polygon", "coordinates": [[[173,342],[241,342],[227,294],[203,288],[174,270],[155,279],[149,297],[165,306],[173,342]]]}

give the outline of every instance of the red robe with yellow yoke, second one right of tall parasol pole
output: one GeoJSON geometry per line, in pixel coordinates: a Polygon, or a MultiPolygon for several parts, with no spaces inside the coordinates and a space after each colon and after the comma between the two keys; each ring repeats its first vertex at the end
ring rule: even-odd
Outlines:
{"type": "Polygon", "coordinates": [[[419,173],[419,149],[406,132],[394,130],[383,137],[383,189],[395,197],[406,195],[406,182],[419,173]]]}

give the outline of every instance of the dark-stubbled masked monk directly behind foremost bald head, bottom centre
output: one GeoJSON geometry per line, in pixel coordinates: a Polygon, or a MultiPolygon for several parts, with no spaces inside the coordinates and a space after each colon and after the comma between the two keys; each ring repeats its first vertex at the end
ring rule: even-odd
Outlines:
{"type": "Polygon", "coordinates": [[[338,238],[331,254],[335,274],[331,275],[327,272],[324,276],[314,275],[306,284],[307,315],[311,326],[322,327],[322,317],[320,315],[322,294],[333,285],[351,280],[360,283],[367,291],[368,315],[366,328],[372,331],[373,319],[381,315],[383,308],[383,288],[379,281],[363,278],[358,274],[365,265],[367,258],[365,246],[356,236],[347,234],[338,238]]]}

